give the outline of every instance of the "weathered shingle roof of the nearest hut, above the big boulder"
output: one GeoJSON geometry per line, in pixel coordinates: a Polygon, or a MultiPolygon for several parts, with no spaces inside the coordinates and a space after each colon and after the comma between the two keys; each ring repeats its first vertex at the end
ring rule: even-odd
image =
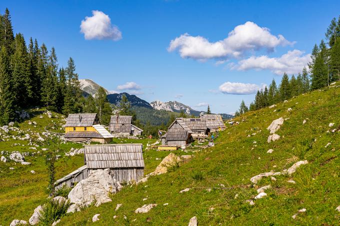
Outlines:
{"type": "Polygon", "coordinates": [[[88,169],[144,167],[142,144],[84,145],[88,169]]]}

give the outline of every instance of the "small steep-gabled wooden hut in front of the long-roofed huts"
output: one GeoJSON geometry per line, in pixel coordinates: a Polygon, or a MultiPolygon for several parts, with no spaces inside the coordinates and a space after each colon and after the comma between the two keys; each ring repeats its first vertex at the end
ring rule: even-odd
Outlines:
{"type": "Polygon", "coordinates": [[[185,145],[192,142],[191,134],[192,131],[183,122],[182,118],[177,118],[169,126],[166,135],[162,137],[164,137],[164,145],[174,145],[184,149],[185,145]]]}

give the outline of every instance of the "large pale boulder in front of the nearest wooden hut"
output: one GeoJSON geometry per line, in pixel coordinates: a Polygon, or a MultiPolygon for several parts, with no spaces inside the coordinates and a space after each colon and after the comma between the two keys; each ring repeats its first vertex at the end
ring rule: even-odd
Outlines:
{"type": "Polygon", "coordinates": [[[86,207],[95,202],[95,206],[111,202],[109,193],[116,193],[121,185],[109,175],[109,169],[93,170],[88,177],[81,180],[68,194],[70,203],[86,207]]]}

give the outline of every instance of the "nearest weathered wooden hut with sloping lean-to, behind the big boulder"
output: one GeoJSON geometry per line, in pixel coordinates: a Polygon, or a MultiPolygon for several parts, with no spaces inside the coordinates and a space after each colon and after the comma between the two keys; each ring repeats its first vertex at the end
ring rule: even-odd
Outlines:
{"type": "Polygon", "coordinates": [[[90,170],[110,169],[119,183],[138,181],[144,176],[142,144],[84,145],[85,165],[55,182],[56,188],[87,178],[90,170]]]}

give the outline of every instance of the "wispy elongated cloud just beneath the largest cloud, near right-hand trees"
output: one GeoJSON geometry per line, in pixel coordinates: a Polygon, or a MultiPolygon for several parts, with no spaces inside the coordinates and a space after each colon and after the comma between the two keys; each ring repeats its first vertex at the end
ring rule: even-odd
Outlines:
{"type": "Polygon", "coordinates": [[[302,71],[304,66],[310,61],[310,54],[303,55],[304,52],[294,49],[288,51],[280,57],[270,58],[266,55],[251,56],[247,59],[240,60],[235,65],[230,65],[231,69],[237,70],[270,70],[271,72],[282,75],[284,72],[288,74],[297,74],[302,71]]]}

